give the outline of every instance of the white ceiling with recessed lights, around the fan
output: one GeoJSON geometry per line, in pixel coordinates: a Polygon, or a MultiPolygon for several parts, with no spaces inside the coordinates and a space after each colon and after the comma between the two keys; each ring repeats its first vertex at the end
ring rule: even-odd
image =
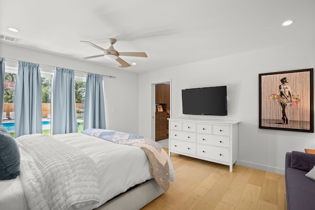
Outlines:
{"type": "Polygon", "coordinates": [[[80,40],[107,49],[116,38],[119,52],[148,58],[88,61],[139,73],[314,39],[315,0],[0,0],[0,34],[70,58],[102,54],[80,40]]]}

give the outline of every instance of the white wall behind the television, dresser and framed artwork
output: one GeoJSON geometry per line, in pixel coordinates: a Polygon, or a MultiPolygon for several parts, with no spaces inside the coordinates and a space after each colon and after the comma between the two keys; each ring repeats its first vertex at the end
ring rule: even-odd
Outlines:
{"type": "Polygon", "coordinates": [[[315,67],[315,40],[139,74],[139,134],[151,136],[151,83],[172,80],[172,118],[240,120],[240,165],[284,174],[286,151],[315,149],[315,134],[258,129],[258,74],[315,67]],[[227,116],[182,114],[181,90],[227,86],[227,116]]]}

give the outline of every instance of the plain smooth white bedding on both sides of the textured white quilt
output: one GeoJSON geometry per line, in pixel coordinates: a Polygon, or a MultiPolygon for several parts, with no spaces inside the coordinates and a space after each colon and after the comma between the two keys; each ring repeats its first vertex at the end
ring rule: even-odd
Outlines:
{"type": "MultiPolygon", "coordinates": [[[[84,209],[95,209],[130,187],[153,179],[145,152],[82,133],[53,135],[54,139],[87,153],[96,163],[101,201],[84,209]]],[[[0,210],[25,210],[26,202],[19,177],[0,181],[0,210]],[[2,190],[5,189],[5,190],[2,190]]]]}

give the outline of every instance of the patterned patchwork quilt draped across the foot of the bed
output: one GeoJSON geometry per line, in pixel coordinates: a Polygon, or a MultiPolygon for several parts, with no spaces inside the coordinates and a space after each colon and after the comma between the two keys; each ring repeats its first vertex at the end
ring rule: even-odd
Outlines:
{"type": "Polygon", "coordinates": [[[82,131],[82,133],[116,144],[130,145],[141,148],[148,156],[150,162],[150,172],[154,179],[164,191],[168,190],[170,171],[167,161],[167,153],[155,141],[134,134],[97,128],[86,129],[82,131]]]}

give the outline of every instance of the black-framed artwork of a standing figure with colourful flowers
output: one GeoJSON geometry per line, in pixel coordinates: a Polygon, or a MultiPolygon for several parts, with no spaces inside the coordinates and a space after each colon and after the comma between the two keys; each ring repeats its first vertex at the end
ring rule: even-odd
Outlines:
{"type": "Polygon", "coordinates": [[[259,128],[314,133],[313,68],[259,74],[259,128]]]}

